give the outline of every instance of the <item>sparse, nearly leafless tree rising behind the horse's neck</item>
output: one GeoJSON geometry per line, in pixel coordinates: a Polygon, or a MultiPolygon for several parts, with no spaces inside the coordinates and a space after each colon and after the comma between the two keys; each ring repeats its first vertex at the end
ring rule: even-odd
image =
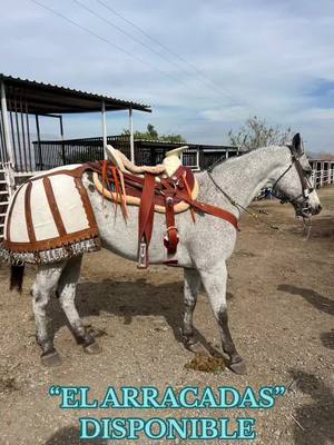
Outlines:
{"type": "Polygon", "coordinates": [[[240,150],[254,150],[258,147],[284,145],[291,141],[291,128],[271,126],[265,119],[253,116],[237,131],[228,131],[229,142],[240,150]]]}

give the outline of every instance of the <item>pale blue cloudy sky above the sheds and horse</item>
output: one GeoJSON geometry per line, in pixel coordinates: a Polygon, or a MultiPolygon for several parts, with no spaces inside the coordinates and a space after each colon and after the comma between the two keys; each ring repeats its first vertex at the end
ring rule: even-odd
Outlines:
{"type": "MultiPolygon", "coordinates": [[[[180,59],[98,0],[38,1],[109,43],[32,0],[3,2],[0,71],[151,105],[135,112],[136,129],[225,144],[257,115],[301,131],[312,151],[334,151],[332,0],[101,0],[180,59]]],[[[125,112],[108,113],[108,134],[127,125],[125,112]]],[[[66,117],[65,130],[99,135],[99,116],[66,117]]],[[[56,134],[56,122],[43,119],[42,131],[56,134]]]]}

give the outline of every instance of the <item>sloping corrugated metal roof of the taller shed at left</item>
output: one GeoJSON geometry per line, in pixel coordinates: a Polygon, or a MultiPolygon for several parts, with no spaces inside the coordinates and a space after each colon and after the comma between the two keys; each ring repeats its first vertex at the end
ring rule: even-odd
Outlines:
{"type": "Polygon", "coordinates": [[[4,82],[9,110],[19,110],[21,102],[30,113],[70,113],[100,111],[105,101],[107,111],[134,110],[151,112],[150,106],[108,96],[76,90],[57,85],[20,79],[0,73],[4,82]]]}

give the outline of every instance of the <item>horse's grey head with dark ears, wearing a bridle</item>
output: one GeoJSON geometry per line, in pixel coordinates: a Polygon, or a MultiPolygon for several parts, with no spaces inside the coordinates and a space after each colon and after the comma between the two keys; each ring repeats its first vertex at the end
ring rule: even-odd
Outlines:
{"type": "Polygon", "coordinates": [[[312,182],[312,168],[297,132],[288,145],[291,161],[274,182],[282,202],[291,202],[297,216],[308,218],[320,214],[322,206],[312,182]]]}

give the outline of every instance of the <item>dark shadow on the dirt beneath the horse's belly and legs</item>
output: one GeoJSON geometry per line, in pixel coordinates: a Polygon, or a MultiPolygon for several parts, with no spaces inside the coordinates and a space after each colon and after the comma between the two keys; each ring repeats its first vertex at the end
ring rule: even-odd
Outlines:
{"type": "MultiPolygon", "coordinates": [[[[233,294],[227,293],[227,299],[233,294]]],[[[106,279],[102,281],[87,281],[78,285],[76,306],[80,317],[89,316],[116,316],[124,319],[125,325],[130,325],[138,316],[164,317],[171,328],[177,342],[183,343],[181,323],[184,312],[183,283],[168,283],[153,285],[145,278],[135,281],[116,281],[106,279]]],[[[48,315],[52,320],[52,334],[62,326],[68,326],[68,320],[60,307],[58,298],[52,298],[48,307],[48,315]]],[[[157,326],[159,330],[161,327],[157,326]]],[[[102,329],[95,330],[96,337],[108,335],[102,329]]],[[[212,355],[220,355],[206,338],[195,329],[196,340],[212,355]]]]}

